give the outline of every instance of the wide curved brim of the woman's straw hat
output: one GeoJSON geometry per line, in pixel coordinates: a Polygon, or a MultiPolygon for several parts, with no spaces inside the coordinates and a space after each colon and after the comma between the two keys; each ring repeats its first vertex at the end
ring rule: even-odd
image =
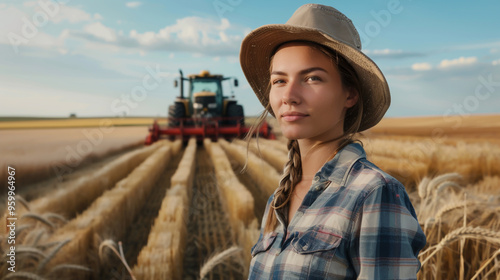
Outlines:
{"type": "MultiPolygon", "coordinates": [[[[270,57],[278,46],[290,41],[315,42],[342,55],[354,68],[361,82],[363,116],[358,131],[376,125],[389,108],[389,86],[382,71],[368,56],[313,28],[289,24],[270,24],[249,33],[242,42],[240,64],[264,108],[269,104],[270,57]]],[[[273,114],[272,111],[270,111],[273,114]]]]}

